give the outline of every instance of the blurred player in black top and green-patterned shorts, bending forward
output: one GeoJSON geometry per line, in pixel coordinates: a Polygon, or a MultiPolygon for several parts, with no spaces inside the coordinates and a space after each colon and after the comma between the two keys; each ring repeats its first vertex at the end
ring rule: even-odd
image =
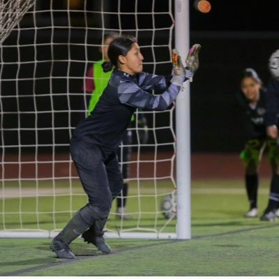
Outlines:
{"type": "Polygon", "coordinates": [[[258,169],[264,149],[268,149],[268,160],[273,171],[271,179],[271,193],[261,220],[275,220],[278,195],[279,176],[276,169],[279,163],[278,146],[276,140],[267,137],[264,116],[266,114],[266,90],[262,81],[252,68],[247,68],[241,77],[241,91],[236,94],[241,107],[243,128],[246,133],[246,146],[241,152],[241,159],[245,165],[245,182],[250,209],[246,217],[257,217],[257,192],[259,186],[258,169]]]}

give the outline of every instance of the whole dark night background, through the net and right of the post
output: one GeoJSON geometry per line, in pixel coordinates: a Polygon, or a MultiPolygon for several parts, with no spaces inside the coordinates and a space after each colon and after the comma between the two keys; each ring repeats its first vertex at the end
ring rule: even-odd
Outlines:
{"type": "MultiPolygon", "coordinates": [[[[234,105],[234,92],[239,88],[239,75],[244,68],[255,68],[264,84],[269,80],[267,63],[272,52],[279,48],[279,24],[277,1],[222,1],[210,0],[212,9],[208,14],[202,14],[194,7],[194,1],[190,0],[190,43],[200,43],[200,68],[191,84],[191,144],[193,152],[238,152],[243,147],[243,135],[238,123],[236,107],[234,105]]],[[[81,1],[83,3],[83,1],[81,1]]],[[[114,0],[106,0],[106,7],[109,10],[117,8],[114,0]]],[[[40,17],[36,21],[37,27],[45,27],[50,24],[50,13],[45,11],[50,1],[38,1],[38,10],[41,10],[40,17]]],[[[100,1],[87,1],[86,9],[93,10],[100,8],[100,1]]],[[[134,1],[122,0],[121,12],[129,12],[134,9],[134,1]]],[[[168,1],[156,0],[156,10],[164,10],[168,1]]],[[[54,8],[58,9],[53,13],[53,20],[56,25],[65,26],[68,18],[65,13],[59,11],[63,8],[63,1],[55,1],[54,8]]],[[[83,5],[80,7],[83,9],[83,5]]],[[[150,0],[140,0],[138,10],[141,12],[151,9],[150,0]]],[[[34,57],[33,46],[20,47],[20,53],[16,48],[5,47],[14,45],[17,41],[17,31],[3,43],[0,58],[1,78],[8,80],[18,77],[24,78],[17,84],[15,82],[1,81],[0,91],[3,106],[3,128],[13,128],[18,125],[18,118],[15,114],[5,112],[28,112],[36,110],[39,112],[36,117],[30,113],[22,113],[22,130],[20,144],[56,145],[68,143],[69,128],[63,130],[68,124],[68,110],[70,110],[70,124],[74,127],[79,119],[80,103],[84,100],[82,94],[82,82],[86,72],[86,61],[99,59],[96,47],[78,45],[84,43],[85,30],[78,27],[84,24],[82,16],[73,14],[70,24],[77,29],[57,29],[53,33],[52,42],[61,45],[49,45],[50,29],[38,29],[36,43],[40,43],[36,52],[38,61],[47,61],[36,65],[36,77],[33,82],[34,64],[22,63],[20,71],[17,68],[17,60],[29,61],[34,57]],[[66,43],[65,43],[66,42],[66,43]],[[69,44],[68,44],[69,43],[69,44]],[[51,63],[51,60],[59,60],[51,63]],[[68,60],[71,60],[70,66],[68,60]],[[14,62],[14,63],[1,63],[14,62]],[[46,78],[45,73],[51,73],[52,81],[46,78]],[[65,77],[71,76],[70,80],[65,77]],[[30,77],[30,78],[29,78],[30,77]],[[8,98],[20,87],[23,96],[8,98]],[[33,86],[38,94],[36,102],[33,101],[31,93],[33,86]],[[70,92],[69,99],[66,94],[59,92],[70,92]],[[53,102],[46,97],[51,94],[53,102]],[[5,97],[6,96],[6,97],[5,97]],[[5,100],[4,100],[5,99],[5,100]],[[43,113],[45,110],[56,110],[59,114],[43,113]],[[42,113],[40,113],[42,112],[42,113]],[[35,123],[36,121],[36,123],[35,123]],[[56,128],[36,133],[31,130],[33,126],[38,128],[56,128]],[[28,130],[29,129],[29,130],[28,130]]],[[[89,20],[89,25],[98,26],[100,18],[96,16],[89,20]]],[[[131,26],[131,18],[122,17],[121,27],[123,29],[134,28],[131,26]]],[[[24,18],[22,26],[30,27],[31,18],[24,18]]],[[[105,26],[107,29],[118,28],[117,17],[106,16],[105,26]]],[[[139,17],[140,28],[149,27],[150,17],[142,15],[139,17]]],[[[156,27],[164,27],[169,24],[168,17],[161,17],[156,22],[156,27]]],[[[133,25],[133,24],[132,24],[133,25]]],[[[87,41],[89,44],[98,44],[101,31],[88,31],[87,41]]],[[[156,40],[165,40],[167,34],[160,32],[156,40]]],[[[34,33],[25,30],[20,36],[20,43],[31,44],[34,40],[34,33]]],[[[150,32],[140,33],[139,44],[144,45],[151,40],[150,32]]],[[[163,52],[161,55],[164,55],[163,52]]],[[[144,54],[147,58],[149,53],[144,54]]],[[[146,66],[144,70],[148,71],[146,66]]],[[[169,68],[159,69],[161,73],[169,73],[169,68]]],[[[149,119],[151,121],[151,119],[149,119]]],[[[6,131],[3,135],[5,144],[19,144],[17,130],[6,131]]]]}

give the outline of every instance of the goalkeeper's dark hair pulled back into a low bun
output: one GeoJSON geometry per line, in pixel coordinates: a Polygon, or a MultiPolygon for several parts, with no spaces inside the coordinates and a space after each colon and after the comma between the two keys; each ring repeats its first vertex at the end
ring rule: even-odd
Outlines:
{"type": "Polygon", "coordinates": [[[134,43],[135,40],[127,37],[119,37],[112,40],[112,43],[110,43],[109,49],[107,50],[107,56],[109,57],[110,61],[104,62],[102,64],[103,71],[106,73],[112,70],[113,66],[117,68],[119,56],[126,56],[134,43]]]}

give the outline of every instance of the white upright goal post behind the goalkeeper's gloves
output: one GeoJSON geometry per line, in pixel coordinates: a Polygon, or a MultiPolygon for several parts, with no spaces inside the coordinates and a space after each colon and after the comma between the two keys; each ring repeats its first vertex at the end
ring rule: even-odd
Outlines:
{"type": "MultiPolygon", "coordinates": [[[[175,1],[175,46],[185,61],[189,50],[189,1],[175,1]]],[[[177,239],[191,238],[190,84],[176,99],[177,239]]]]}

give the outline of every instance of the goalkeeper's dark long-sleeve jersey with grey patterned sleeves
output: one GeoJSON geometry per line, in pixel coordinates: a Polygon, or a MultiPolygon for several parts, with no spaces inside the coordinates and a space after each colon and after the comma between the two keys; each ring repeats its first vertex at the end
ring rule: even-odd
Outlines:
{"type": "Polygon", "coordinates": [[[175,100],[180,86],[169,85],[169,78],[140,73],[134,76],[114,69],[93,112],[77,128],[74,137],[98,144],[106,151],[116,150],[137,107],[166,110],[175,100]],[[150,90],[165,90],[160,96],[150,90]]]}

